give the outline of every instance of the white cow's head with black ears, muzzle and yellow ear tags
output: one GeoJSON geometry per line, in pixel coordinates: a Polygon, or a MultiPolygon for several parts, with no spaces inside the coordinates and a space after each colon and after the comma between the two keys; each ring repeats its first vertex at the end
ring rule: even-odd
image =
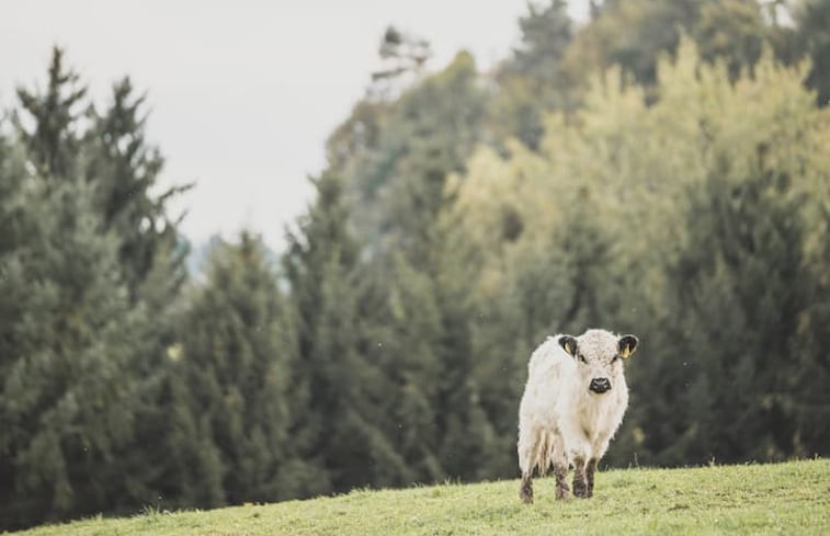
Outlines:
{"type": "Polygon", "coordinates": [[[560,335],[559,345],[577,361],[580,381],[596,395],[611,390],[623,377],[623,362],[634,354],[638,340],[605,330],[588,330],[580,337],[560,335]]]}

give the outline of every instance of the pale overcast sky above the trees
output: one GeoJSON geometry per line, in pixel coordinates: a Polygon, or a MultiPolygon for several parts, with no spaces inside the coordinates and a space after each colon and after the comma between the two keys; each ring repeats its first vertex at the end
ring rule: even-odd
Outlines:
{"type": "MultiPolygon", "coordinates": [[[[582,18],[587,0],[571,0],[582,18]]],[[[307,176],[378,67],[384,28],[425,37],[436,70],[461,48],[480,69],[516,44],[525,0],[4,0],[0,103],[43,88],[50,48],[66,48],[96,102],[129,75],[148,92],[164,184],[194,182],[175,205],[202,241],[243,227],[278,248],[311,201],[307,176]]]]}

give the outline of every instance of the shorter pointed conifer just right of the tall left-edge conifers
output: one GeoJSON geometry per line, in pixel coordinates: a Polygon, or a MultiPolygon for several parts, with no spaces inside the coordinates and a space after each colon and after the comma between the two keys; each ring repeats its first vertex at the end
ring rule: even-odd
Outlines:
{"type": "Polygon", "coordinates": [[[294,335],[276,274],[261,241],[243,232],[214,250],[206,277],[182,321],[170,378],[172,404],[186,408],[179,418],[197,437],[174,436],[171,448],[177,463],[192,459],[198,470],[179,469],[189,480],[169,493],[198,506],[294,497],[297,484],[284,474],[294,335]]]}

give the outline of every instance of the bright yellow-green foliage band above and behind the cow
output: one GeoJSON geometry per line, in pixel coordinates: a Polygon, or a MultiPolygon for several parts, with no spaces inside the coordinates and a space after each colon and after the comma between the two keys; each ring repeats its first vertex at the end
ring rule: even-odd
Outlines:
{"type": "MultiPolygon", "coordinates": [[[[450,219],[470,249],[487,252],[485,290],[498,288],[572,219],[607,233],[619,267],[638,263],[659,287],[657,267],[685,238],[690,190],[725,164],[726,179],[786,173],[792,194],[812,199],[806,217],[826,210],[830,115],[804,89],[807,70],[781,67],[766,53],[752,76],[731,82],[725,65],[703,62],[685,39],[675,59],[660,61],[652,104],[611,69],[594,80],[582,109],[548,118],[539,153],[518,142],[508,158],[479,149],[467,173],[450,181],[457,198],[450,219]],[[518,240],[503,238],[509,213],[522,223],[518,240]]],[[[812,232],[808,244],[818,248],[827,230],[812,232]]]]}

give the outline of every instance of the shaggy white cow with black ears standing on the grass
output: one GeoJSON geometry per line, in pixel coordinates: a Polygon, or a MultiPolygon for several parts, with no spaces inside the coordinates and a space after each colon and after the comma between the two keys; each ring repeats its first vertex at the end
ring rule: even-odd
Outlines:
{"type": "Polygon", "coordinates": [[[548,338],[533,352],[519,408],[522,501],[533,502],[533,470],[544,475],[552,465],[557,499],[568,497],[570,465],[573,495],[593,495],[596,463],[628,406],[623,362],[637,342],[634,335],[588,330],[578,338],[548,338]]]}

